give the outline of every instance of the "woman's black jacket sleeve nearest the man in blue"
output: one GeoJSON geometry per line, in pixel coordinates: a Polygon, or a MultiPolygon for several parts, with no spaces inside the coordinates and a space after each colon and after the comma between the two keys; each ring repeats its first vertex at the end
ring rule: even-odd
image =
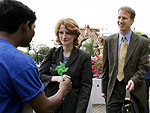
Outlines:
{"type": "Polygon", "coordinates": [[[40,79],[41,79],[42,83],[44,84],[44,86],[47,86],[52,78],[51,72],[50,72],[50,66],[51,66],[51,62],[52,62],[52,58],[53,58],[52,54],[54,53],[54,51],[55,51],[55,48],[52,48],[45,55],[44,61],[39,68],[40,79]]]}

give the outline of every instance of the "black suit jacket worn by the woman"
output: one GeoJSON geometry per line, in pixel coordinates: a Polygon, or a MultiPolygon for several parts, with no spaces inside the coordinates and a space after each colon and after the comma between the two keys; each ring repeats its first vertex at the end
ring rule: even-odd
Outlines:
{"type": "MultiPolygon", "coordinates": [[[[47,87],[48,96],[54,95],[59,89],[59,83],[51,82],[51,77],[59,76],[55,68],[60,65],[60,61],[63,62],[62,47],[56,49],[51,61],[52,51],[53,49],[45,56],[39,70],[40,78],[47,87]]],[[[64,74],[71,76],[72,90],[67,94],[61,106],[63,113],[86,113],[92,88],[91,56],[89,53],[74,47],[65,67],[69,67],[64,74]]]]}

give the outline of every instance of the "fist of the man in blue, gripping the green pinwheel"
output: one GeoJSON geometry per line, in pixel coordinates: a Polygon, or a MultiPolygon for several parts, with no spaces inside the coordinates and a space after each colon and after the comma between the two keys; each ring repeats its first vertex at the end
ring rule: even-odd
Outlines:
{"type": "Polygon", "coordinates": [[[63,91],[64,96],[71,90],[72,82],[70,81],[70,76],[64,76],[63,81],[60,82],[59,88],[63,91]]]}

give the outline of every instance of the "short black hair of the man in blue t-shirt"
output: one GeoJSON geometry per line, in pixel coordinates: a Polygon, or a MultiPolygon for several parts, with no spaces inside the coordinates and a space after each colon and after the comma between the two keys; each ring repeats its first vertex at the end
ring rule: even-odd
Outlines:
{"type": "Polygon", "coordinates": [[[36,15],[28,6],[16,0],[0,1],[0,31],[14,33],[22,23],[35,22],[36,15]]]}

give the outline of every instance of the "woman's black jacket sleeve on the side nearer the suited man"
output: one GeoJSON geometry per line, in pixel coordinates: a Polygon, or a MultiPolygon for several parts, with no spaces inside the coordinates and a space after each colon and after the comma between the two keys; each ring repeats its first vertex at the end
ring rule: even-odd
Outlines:
{"type": "Polygon", "coordinates": [[[86,113],[92,89],[92,77],[93,72],[92,72],[91,56],[89,55],[87,59],[85,59],[82,69],[80,93],[78,96],[76,113],[86,113]]]}

